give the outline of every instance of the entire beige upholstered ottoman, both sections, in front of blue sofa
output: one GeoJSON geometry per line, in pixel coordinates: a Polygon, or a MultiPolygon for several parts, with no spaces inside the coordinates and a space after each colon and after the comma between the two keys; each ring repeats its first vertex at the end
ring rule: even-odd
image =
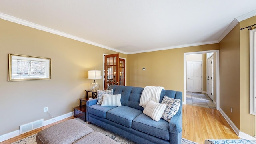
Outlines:
{"type": "Polygon", "coordinates": [[[36,135],[37,144],[119,144],[78,120],[67,120],[46,128],[36,135]]]}

